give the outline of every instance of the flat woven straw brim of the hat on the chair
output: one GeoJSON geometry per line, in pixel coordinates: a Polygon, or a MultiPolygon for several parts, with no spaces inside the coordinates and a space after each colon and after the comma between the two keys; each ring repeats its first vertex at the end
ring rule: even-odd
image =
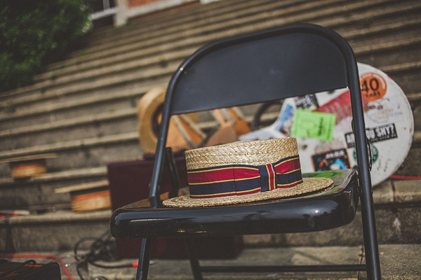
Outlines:
{"type": "Polygon", "coordinates": [[[293,197],[305,193],[313,193],[324,190],[333,185],[332,179],[328,178],[304,178],[302,183],[291,188],[277,188],[262,193],[253,193],[250,195],[234,195],[229,197],[214,198],[190,198],[189,195],[173,197],[163,201],[166,207],[211,207],[227,204],[239,204],[245,202],[256,202],[260,200],[271,200],[282,197],[293,197]]]}

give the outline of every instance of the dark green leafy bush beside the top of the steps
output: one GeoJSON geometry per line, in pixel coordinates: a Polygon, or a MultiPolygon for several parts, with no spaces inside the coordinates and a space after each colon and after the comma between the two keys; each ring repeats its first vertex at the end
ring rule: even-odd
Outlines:
{"type": "Polygon", "coordinates": [[[81,38],[83,0],[0,0],[0,92],[31,83],[81,38]]]}

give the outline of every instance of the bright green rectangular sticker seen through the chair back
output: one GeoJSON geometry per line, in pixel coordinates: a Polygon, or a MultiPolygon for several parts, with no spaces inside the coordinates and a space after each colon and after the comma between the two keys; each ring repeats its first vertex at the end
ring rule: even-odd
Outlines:
{"type": "Polygon", "coordinates": [[[291,136],[332,141],[335,122],[336,115],[333,113],[295,110],[291,136]]]}

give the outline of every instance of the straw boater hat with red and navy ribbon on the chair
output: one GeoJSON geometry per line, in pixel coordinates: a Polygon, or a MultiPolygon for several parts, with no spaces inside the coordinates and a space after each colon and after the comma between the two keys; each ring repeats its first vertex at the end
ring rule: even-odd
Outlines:
{"type": "Polygon", "coordinates": [[[238,141],[186,151],[189,195],[167,207],[210,207],[312,193],[332,186],[326,178],[302,178],[297,140],[238,141]]]}

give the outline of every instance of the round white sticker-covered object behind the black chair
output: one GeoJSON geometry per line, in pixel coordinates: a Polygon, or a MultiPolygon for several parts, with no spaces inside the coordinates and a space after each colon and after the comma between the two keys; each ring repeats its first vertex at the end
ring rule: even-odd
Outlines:
{"type": "MultiPolygon", "coordinates": [[[[358,69],[375,186],[394,174],[408,155],[413,113],[392,78],[367,64],[359,63],[358,69]]],[[[240,139],[296,137],[302,172],[347,169],[356,165],[351,122],[351,100],[345,88],[285,99],[274,124],[240,139]]]]}

